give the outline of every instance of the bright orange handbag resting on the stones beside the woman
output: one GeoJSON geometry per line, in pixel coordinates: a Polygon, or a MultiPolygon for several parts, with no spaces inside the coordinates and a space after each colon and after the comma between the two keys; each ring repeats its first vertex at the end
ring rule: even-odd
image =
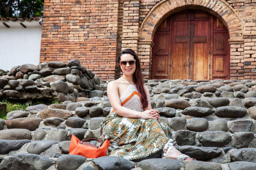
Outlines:
{"type": "Polygon", "coordinates": [[[80,141],[78,138],[76,138],[76,136],[72,135],[69,146],[69,154],[81,155],[86,158],[104,157],[107,155],[110,141],[109,139],[106,139],[100,148],[95,148],[95,146],[91,146],[90,143],[85,145],[83,143],[84,141],[80,141]]]}

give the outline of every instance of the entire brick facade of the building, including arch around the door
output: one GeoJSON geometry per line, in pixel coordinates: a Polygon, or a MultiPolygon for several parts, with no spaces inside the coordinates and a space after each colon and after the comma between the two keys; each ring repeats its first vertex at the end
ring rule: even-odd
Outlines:
{"type": "Polygon", "coordinates": [[[103,79],[120,74],[116,57],[132,48],[151,78],[153,38],[180,10],[204,10],[230,34],[230,78],[256,80],[256,0],[45,0],[40,61],[79,59],[103,79]]]}

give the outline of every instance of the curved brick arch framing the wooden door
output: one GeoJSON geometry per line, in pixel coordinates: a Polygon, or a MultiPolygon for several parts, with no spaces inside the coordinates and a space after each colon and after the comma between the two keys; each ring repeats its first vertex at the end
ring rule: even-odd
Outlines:
{"type": "MultiPolygon", "coordinates": [[[[243,22],[227,2],[223,0],[161,1],[148,13],[139,30],[138,55],[140,59],[147,60],[147,62],[142,63],[145,78],[151,78],[153,39],[157,27],[173,13],[188,9],[204,10],[219,18],[227,27],[230,36],[230,50],[232,45],[243,44],[243,22]]],[[[230,54],[230,62],[232,62],[232,54],[230,54]]]]}

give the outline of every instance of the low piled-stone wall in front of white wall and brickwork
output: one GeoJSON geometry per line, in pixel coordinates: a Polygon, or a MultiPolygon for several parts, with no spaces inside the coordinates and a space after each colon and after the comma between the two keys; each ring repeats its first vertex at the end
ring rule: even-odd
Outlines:
{"type": "Polygon", "coordinates": [[[79,60],[44,62],[39,66],[24,64],[10,71],[0,71],[0,99],[51,99],[59,101],[89,97],[100,89],[99,77],[81,66],[79,60]]]}

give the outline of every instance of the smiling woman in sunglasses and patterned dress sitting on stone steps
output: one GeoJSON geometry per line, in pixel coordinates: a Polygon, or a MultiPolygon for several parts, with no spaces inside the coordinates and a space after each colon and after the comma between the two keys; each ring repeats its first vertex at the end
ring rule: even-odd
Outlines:
{"type": "Polygon", "coordinates": [[[109,156],[140,160],[164,149],[164,157],[191,160],[173,147],[169,127],[159,124],[159,111],[151,108],[136,53],[122,51],[118,63],[124,74],[108,83],[112,108],[102,122],[104,138],[111,138],[109,156]]]}

